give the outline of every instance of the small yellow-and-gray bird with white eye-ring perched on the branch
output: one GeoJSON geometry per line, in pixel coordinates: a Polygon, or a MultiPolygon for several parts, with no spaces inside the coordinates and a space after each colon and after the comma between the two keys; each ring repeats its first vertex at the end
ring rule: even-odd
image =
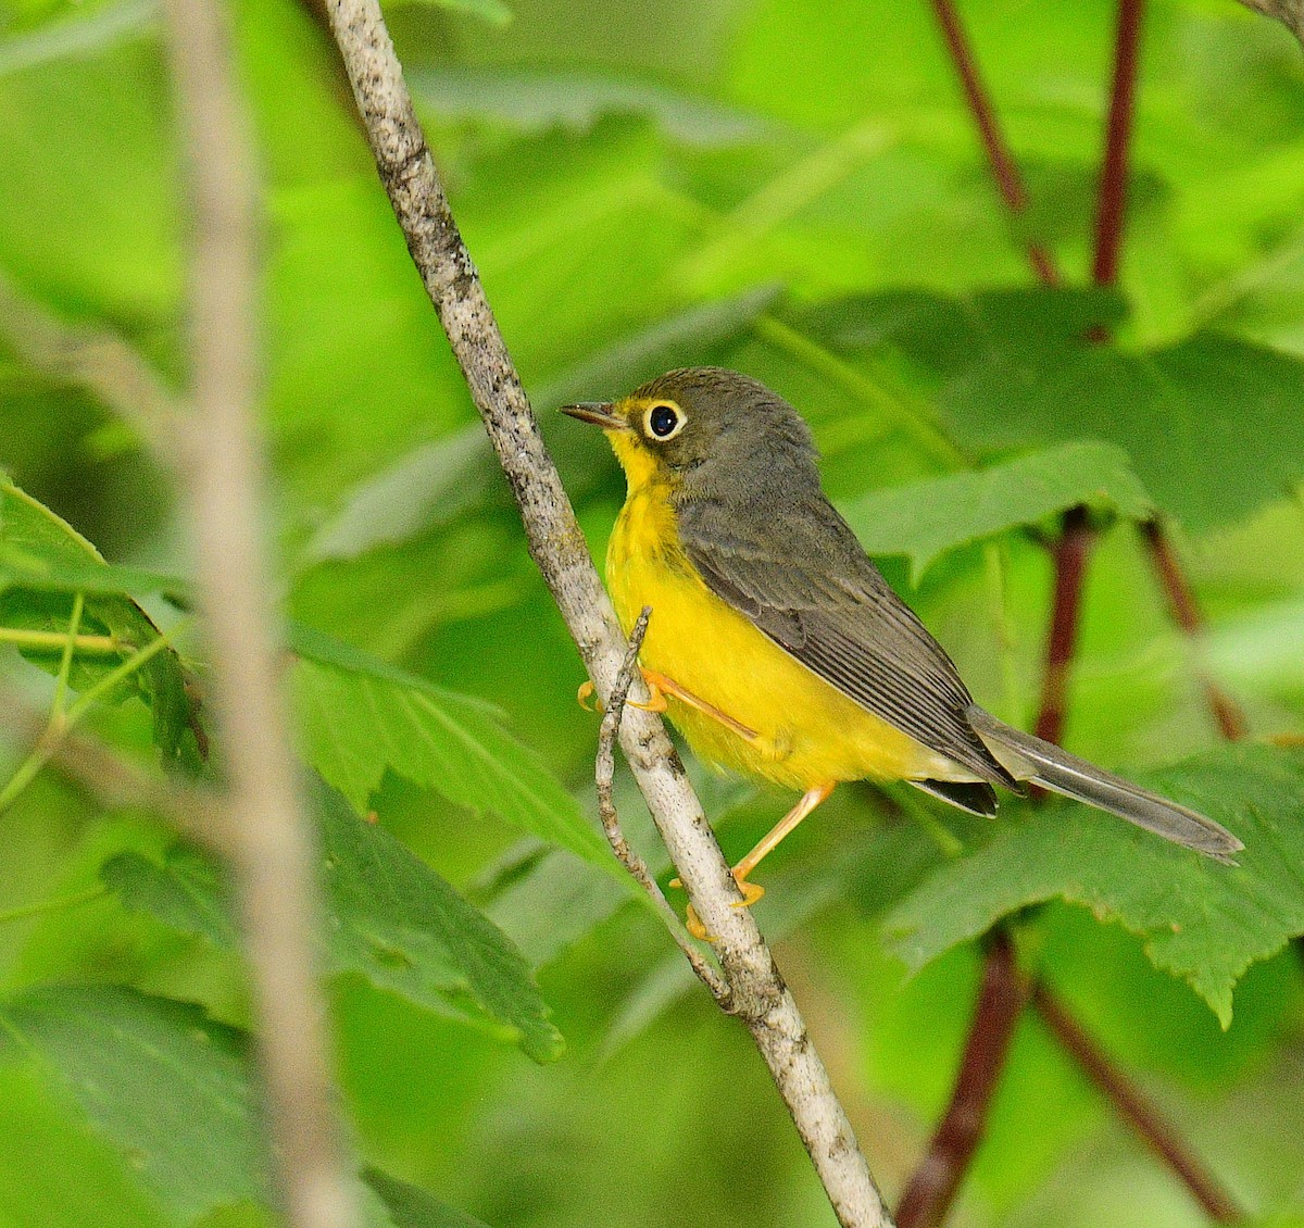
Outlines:
{"type": "Polygon", "coordinates": [[[747,876],[842,781],[909,781],[977,815],[1022,781],[1227,862],[1241,842],[1204,815],[996,720],[828,501],[810,428],[763,383],[673,370],[614,403],[567,405],[602,428],[629,494],[606,581],[655,705],[717,767],[802,790],[735,867],[747,876]]]}

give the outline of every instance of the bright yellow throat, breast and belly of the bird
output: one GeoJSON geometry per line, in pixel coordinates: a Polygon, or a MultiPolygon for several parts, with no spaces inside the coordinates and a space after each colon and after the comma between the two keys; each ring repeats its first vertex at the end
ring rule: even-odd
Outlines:
{"type": "Polygon", "coordinates": [[[716,597],[677,542],[664,494],[631,493],[608,546],[606,580],[626,634],[652,606],[643,666],[756,733],[743,737],[672,697],[666,714],[700,759],[792,789],[957,776],[955,763],[866,712],[716,597]]]}

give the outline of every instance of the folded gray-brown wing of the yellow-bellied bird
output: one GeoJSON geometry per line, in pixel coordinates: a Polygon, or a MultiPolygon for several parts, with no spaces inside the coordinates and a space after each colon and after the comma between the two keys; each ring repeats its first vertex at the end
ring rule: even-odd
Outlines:
{"type": "Polygon", "coordinates": [[[707,587],[861,707],[973,770],[1018,785],[969,722],[941,645],[892,591],[822,493],[793,506],[694,499],[679,534],[707,587]]]}

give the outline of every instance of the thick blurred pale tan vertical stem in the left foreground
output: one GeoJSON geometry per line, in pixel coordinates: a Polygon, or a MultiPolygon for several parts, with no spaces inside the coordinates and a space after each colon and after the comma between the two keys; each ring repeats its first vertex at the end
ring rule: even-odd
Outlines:
{"type": "Polygon", "coordinates": [[[346,1228],[353,1181],[330,1105],[313,841],[282,718],[259,542],[250,142],[218,4],[168,0],[167,16],[196,211],[189,495],[273,1164],[291,1228],[346,1228]]]}

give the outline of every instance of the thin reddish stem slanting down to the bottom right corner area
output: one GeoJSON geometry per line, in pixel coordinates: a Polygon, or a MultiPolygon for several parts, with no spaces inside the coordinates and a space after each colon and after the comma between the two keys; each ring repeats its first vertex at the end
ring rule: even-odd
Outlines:
{"type": "Polygon", "coordinates": [[[1159,1111],[1106,1056],[1064,1004],[1045,984],[1034,987],[1031,1001],[1055,1034],[1055,1039],[1104,1094],[1114,1111],[1181,1178],[1181,1184],[1191,1190],[1209,1218],[1219,1224],[1239,1224],[1244,1220],[1245,1212],[1236,1206],[1231,1194],[1187,1150],[1172,1124],[1164,1121],[1159,1111]]]}

